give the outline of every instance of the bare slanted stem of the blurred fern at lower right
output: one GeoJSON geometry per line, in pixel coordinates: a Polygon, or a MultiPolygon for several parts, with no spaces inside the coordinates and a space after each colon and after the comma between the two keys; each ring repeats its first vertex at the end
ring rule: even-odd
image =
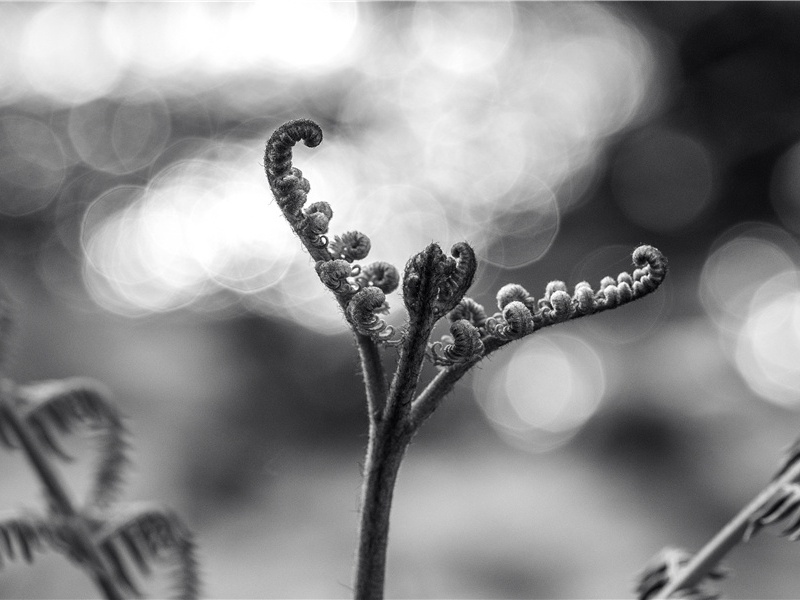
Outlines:
{"type": "Polygon", "coordinates": [[[739,544],[752,516],[787,483],[800,479],[800,460],[795,461],[780,477],[765,487],[747,506],[731,519],[711,540],[694,555],[683,569],[664,586],[655,599],[669,598],[682,589],[700,583],[719,561],[739,544]]]}

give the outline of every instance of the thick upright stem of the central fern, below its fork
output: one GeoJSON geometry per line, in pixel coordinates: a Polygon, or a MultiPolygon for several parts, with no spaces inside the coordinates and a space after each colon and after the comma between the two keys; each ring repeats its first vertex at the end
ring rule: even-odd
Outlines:
{"type": "Polygon", "coordinates": [[[400,411],[384,418],[370,435],[361,496],[361,524],[354,598],[380,600],[386,578],[389,515],[397,473],[411,440],[410,429],[400,411]]]}

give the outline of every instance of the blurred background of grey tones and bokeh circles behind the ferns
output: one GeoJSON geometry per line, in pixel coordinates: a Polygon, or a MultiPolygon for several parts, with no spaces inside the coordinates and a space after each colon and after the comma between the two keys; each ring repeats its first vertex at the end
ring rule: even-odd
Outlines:
{"type": "MultiPolygon", "coordinates": [[[[355,352],[262,169],[272,130],[313,118],[325,140],[295,164],[331,233],[398,266],[467,240],[490,310],[508,282],[669,257],[652,297],[466,378],[392,520],[390,596],[632,595],[800,433],[799,73],[792,3],[3,4],[8,375],[113,390],[125,499],[191,524],[207,595],[347,597],[355,352]]],[[[0,474],[0,505],[41,505],[21,456],[0,474]]],[[[727,594],[796,598],[798,552],[737,548],[727,594]]],[[[59,556],[0,573],[3,597],[93,594],[59,556]]]]}

